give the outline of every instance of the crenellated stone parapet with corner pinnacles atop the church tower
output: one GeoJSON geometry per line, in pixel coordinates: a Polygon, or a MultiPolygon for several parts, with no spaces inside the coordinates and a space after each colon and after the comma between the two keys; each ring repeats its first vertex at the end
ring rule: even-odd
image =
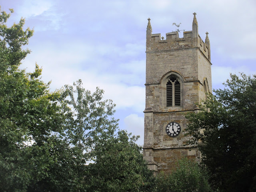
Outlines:
{"type": "Polygon", "coordinates": [[[196,13],[193,14],[192,31],[184,31],[182,38],[179,38],[178,31],[166,33],[166,39],[161,39],[161,34],[152,34],[150,18],[148,18],[146,52],[199,48],[202,54],[210,61],[210,40],[208,38],[208,32],[206,32],[206,39],[204,42],[198,34],[196,13]]]}

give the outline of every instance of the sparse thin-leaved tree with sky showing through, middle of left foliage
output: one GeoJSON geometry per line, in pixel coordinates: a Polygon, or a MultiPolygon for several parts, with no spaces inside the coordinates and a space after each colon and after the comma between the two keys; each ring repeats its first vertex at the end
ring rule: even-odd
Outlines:
{"type": "Polygon", "coordinates": [[[99,88],[91,93],[81,80],[65,85],[63,102],[69,108],[62,137],[55,139],[50,151],[55,162],[49,166],[48,176],[30,185],[29,191],[88,191],[93,174],[88,164],[96,164],[95,146],[113,139],[118,126],[118,120],[111,117],[115,105],[102,100],[103,93],[99,88]]]}

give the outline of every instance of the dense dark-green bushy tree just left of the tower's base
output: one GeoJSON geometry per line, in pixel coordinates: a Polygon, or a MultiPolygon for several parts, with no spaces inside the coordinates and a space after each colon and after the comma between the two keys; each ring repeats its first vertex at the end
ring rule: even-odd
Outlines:
{"type": "Polygon", "coordinates": [[[148,170],[136,140],[125,131],[119,131],[115,137],[96,144],[95,163],[89,165],[89,191],[150,191],[154,176],[148,170]]]}

